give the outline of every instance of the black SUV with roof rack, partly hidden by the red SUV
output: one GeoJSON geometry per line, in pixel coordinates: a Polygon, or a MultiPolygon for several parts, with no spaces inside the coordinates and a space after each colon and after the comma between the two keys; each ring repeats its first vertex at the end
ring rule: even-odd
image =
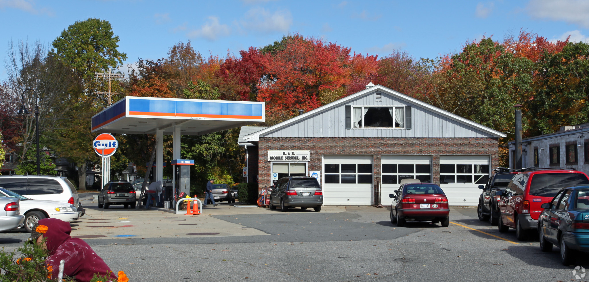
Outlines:
{"type": "Polygon", "coordinates": [[[505,192],[505,188],[516,174],[524,171],[512,170],[510,168],[498,167],[493,171],[495,174],[489,178],[489,181],[485,185],[479,185],[479,189],[482,190],[481,197],[479,197],[479,204],[477,208],[477,214],[480,221],[489,221],[491,225],[497,225],[499,219],[498,201],[499,196],[495,195],[495,191],[501,190],[505,192]]]}

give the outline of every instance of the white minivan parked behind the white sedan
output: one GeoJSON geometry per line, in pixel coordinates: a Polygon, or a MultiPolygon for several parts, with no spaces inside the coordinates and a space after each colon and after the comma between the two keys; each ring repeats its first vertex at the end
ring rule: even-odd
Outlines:
{"type": "Polygon", "coordinates": [[[78,191],[67,177],[51,175],[1,175],[0,187],[33,200],[65,202],[80,207],[78,191]]]}

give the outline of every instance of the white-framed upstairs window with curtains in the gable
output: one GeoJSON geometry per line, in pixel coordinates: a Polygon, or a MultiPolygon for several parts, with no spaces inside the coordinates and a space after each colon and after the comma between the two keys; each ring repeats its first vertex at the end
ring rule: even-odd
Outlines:
{"type": "Polygon", "coordinates": [[[352,107],[352,128],[405,128],[405,107],[352,107]]]}

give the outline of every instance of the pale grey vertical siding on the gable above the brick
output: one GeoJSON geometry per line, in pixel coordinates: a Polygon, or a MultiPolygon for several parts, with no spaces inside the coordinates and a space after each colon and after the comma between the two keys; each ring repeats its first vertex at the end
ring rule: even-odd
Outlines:
{"type": "Polygon", "coordinates": [[[491,134],[451,120],[426,108],[382,92],[381,101],[376,101],[375,92],[365,95],[347,105],[355,106],[411,106],[412,129],[350,129],[345,128],[345,105],[339,105],[313,117],[306,118],[280,130],[260,137],[494,137],[491,134]]]}

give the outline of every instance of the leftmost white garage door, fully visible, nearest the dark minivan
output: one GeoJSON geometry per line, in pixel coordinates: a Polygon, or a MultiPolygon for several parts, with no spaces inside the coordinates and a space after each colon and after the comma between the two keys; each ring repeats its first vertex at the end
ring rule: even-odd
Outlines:
{"type": "Polygon", "coordinates": [[[371,205],[372,155],[323,156],[323,204],[371,205]]]}

